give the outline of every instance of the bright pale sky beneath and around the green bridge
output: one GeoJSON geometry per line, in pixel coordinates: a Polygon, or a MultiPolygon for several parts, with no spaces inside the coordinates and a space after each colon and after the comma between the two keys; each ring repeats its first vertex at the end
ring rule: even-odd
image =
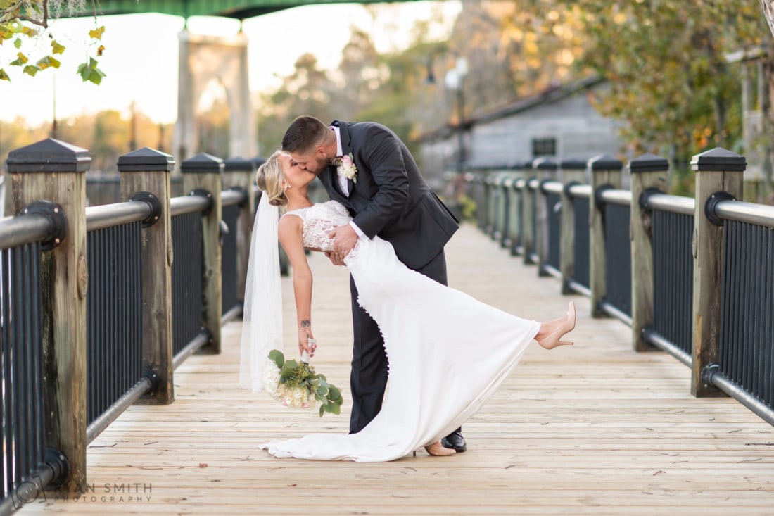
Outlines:
{"type": "MultiPolygon", "coordinates": [[[[450,23],[461,9],[460,0],[445,2],[399,2],[378,5],[376,21],[359,4],[307,5],[245,20],[248,36],[250,89],[267,91],[278,84],[277,76],[289,75],[296,59],[313,53],[325,69],[341,60],[341,50],[351,35],[351,26],[372,34],[378,51],[400,50],[409,42],[415,20],[429,19],[433,9],[443,9],[444,23],[437,24],[433,39],[445,39],[450,23]]],[[[0,120],[12,122],[22,116],[28,126],[67,119],[84,113],[135,108],[156,122],[174,122],[177,116],[178,34],[184,19],[161,14],[115,15],[99,19],[60,19],[51,24],[55,39],[67,47],[61,67],[28,77],[17,67],[8,67],[17,50],[0,46],[0,60],[12,82],[0,81],[0,120]],[[76,74],[78,64],[94,49],[85,44],[90,29],[104,25],[104,53],[99,67],[106,77],[97,86],[84,83],[76,74]]],[[[238,32],[232,19],[193,17],[191,33],[228,35],[238,32]]],[[[25,43],[23,51],[46,50],[48,38],[25,43]]],[[[31,59],[33,60],[33,59],[31,59]]],[[[36,60],[36,58],[34,59],[36,60]]]]}

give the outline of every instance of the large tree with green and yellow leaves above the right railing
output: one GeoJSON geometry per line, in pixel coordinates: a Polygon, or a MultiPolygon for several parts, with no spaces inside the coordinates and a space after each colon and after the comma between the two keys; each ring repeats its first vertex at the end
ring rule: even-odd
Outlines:
{"type": "MultiPolygon", "coordinates": [[[[565,0],[582,21],[579,70],[605,77],[611,89],[593,99],[622,120],[635,152],[673,162],[741,139],[739,70],[726,53],[769,43],[759,5],[743,0],[565,0]]],[[[680,184],[679,171],[676,184],[680,184]]]]}

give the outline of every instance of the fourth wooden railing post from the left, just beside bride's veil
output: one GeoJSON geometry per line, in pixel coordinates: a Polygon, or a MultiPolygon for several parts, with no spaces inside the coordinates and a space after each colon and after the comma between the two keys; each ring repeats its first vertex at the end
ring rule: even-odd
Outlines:
{"type": "Polygon", "coordinates": [[[250,260],[250,242],[255,217],[255,163],[252,160],[229,158],[224,161],[223,188],[240,188],[247,192],[247,204],[239,210],[237,227],[237,292],[238,298],[245,301],[245,282],[247,281],[247,263],[250,260]]]}

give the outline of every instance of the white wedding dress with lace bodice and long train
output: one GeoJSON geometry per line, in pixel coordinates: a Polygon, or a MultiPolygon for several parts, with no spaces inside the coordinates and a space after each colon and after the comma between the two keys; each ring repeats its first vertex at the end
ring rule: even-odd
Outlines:
{"type": "MultiPolygon", "coordinates": [[[[322,250],[333,246],[327,233],[350,221],[337,201],[283,216],[293,215],[303,219],[304,246],[322,250]]],[[[540,328],[410,270],[378,237],[360,239],[344,262],[358,303],[384,336],[389,387],[382,411],[357,434],[261,445],[274,456],[384,462],[436,442],[491,397],[540,328]]]]}

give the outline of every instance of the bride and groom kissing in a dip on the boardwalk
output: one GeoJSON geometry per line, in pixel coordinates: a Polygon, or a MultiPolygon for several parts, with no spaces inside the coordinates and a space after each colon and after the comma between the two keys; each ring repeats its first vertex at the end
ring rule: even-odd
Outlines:
{"type": "Polygon", "coordinates": [[[423,447],[454,455],[467,446],[461,425],[530,342],[546,349],[572,343],[562,340],[575,327],[572,302],[565,315],[541,323],[447,287],[444,245],[458,221],[387,127],[300,116],[256,183],[262,195],[245,289],[241,385],[258,392],[269,351],[282,346],[278,240],[293,270],[300,353],[315,351],[306,250],[347,267],[352,296],[350,432],[260,446],[272,455],[383,462],[423,447]],[[310,201],[315,179],[330,201],[310,201]]]}

